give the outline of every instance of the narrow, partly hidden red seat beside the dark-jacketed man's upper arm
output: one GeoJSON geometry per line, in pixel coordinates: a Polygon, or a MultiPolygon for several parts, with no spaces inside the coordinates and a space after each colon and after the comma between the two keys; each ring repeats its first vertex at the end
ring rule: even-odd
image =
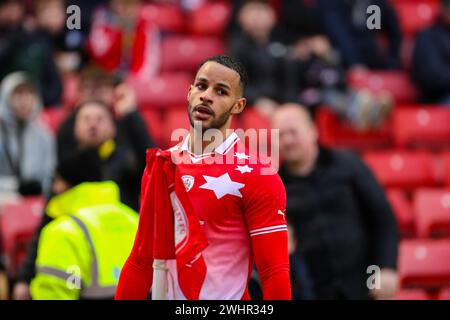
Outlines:
{"type": "Polygon", "coordinates": [[[414,213],[405,192],[400,189],[389,189],[386,192],[386,196],[389,199],[392,210],[394,210],[402,236],[415,235],[414,213]]]}

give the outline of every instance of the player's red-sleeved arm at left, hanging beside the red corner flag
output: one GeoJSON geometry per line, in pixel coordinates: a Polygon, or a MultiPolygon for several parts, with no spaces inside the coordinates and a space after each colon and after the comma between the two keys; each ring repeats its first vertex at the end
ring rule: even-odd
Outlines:
{"type": "Polygon", "coordinates": [[[144,300],[147,298],[153,281],[153,237],[148,230],[153,227],[151,215],[146,201],[148,187],[147,168],[144,171],[141,185],[142,205],[139,216],[139,227],[134,240],[133,249],[120,273],[117,285],[116,300],[144,300]],[[147,231],[146,231],[147,230],[147,231]]]}

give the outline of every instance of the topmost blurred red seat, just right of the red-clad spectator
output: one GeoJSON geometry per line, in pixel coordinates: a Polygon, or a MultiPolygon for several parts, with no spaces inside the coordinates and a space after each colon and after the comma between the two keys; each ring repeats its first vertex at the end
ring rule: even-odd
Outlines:
{"type": "Polygon", "coordinates": [[[161,31],[183,32],[185,20],[183,12],[176,4],[146,4],[140,11],[140,18],[156,24],[161,31]]]}

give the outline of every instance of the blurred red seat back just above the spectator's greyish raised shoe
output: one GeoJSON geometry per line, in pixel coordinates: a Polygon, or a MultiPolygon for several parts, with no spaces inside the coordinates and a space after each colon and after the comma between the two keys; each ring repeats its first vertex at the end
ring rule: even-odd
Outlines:
{"type": "Polygon", "coordinates": [[[367,89],[375,95],[390,93],[396,103],[411,103],[417,91],[405,71],[352,71],[347,80],[355,89],[367,89]]]}

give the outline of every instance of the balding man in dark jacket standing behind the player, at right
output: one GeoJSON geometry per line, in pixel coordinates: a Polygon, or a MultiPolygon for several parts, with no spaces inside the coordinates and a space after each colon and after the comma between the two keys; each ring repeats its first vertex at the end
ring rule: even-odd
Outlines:
{"type": "Polygon", "coordinates": [[[280,107],[274,127],[280,129],[286,214],[315,296],[392,298],[397,224],[372,173],[357,156],[320,147],[317,129],[300,105],[280,107]]]}

